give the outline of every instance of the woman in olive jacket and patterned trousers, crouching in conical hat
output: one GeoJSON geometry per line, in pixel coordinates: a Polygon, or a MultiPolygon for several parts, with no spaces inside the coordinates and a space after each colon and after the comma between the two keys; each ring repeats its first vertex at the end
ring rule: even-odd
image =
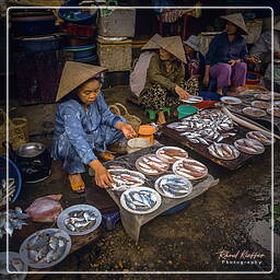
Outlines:
{"type": "Polygon", "coordinates": [[[178,36],[158,38],[160,54],[154,55],[147,71],[147,81],[140,93],[140,104],[158,112],[158,125],[166,122],[164,107],[188,98],[184,86],[186,62],[182,39],[178,36]]]}

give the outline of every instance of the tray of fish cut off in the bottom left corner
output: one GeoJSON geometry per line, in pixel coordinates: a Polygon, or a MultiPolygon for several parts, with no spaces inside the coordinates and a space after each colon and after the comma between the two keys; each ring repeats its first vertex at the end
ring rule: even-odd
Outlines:
{"type": "Polygon", "coordinates": [[[8,252],[9,270],[7,271],[7,252],[0,253],[0,279],[24,280],[28,267],[21,259],[20,254],[8,252]],[[16,273],[13,273],[16,272],[16,273]],[[18,273],[21,272],[21,273],[18,273]]]}

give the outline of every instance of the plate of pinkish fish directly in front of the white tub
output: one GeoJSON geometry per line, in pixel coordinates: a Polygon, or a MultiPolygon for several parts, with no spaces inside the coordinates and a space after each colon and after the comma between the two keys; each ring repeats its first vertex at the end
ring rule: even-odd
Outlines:
{"type": "Polygon", "coordinates": [[[136,167],[147,175],[159,175],[166,172],[170,164],[160,159],[156,154],[145,154],[136,161],[136,167]]]}

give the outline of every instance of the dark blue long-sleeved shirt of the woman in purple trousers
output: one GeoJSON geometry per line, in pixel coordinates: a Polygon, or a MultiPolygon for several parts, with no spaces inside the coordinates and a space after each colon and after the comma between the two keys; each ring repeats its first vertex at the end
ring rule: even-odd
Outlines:
{"type": "Polygon", "coordinates": [[[223,32],[211,40],[206,54],[206,65],[228,63],[232,59],[244,60],[247,57],[248,49],[245,39],[237,34],[235,39],[230,42],[226,32],[223,32]]]}

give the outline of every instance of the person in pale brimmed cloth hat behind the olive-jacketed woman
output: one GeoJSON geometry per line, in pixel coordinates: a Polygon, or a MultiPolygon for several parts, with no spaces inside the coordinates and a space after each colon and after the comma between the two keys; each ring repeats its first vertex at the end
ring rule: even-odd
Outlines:
{"type": "Polygon", "coordinates": [[[185,66],[186,90],[191,95],[197,95],[202,90],[202,79],[205,77],[205,57],[199,51],[198,36],[190,35],[183,42],[187,65],[185,66]]]}

